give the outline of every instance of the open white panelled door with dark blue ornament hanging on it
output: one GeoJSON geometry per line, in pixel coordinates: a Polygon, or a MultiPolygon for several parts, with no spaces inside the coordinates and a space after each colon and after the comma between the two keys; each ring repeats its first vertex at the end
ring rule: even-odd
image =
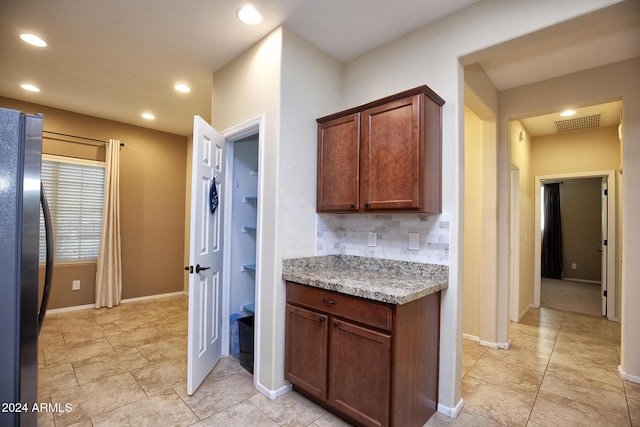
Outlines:
{"type": "Polygon", "coordinates": [[[194,117],[189,251],[187,393],[193,394],[222,356],[222,265],[225,141],[194,117]],[[219,206],[211,212],[211,186],[219,206]]]}

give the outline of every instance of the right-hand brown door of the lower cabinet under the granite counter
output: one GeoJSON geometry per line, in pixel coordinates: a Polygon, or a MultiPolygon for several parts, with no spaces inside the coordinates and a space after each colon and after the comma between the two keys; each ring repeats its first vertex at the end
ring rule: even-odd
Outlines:
{"type": "Polygon", "coordinates": [[[332,319],[329,402],[358,423],[389,424],[391,337],[332,319]]]}

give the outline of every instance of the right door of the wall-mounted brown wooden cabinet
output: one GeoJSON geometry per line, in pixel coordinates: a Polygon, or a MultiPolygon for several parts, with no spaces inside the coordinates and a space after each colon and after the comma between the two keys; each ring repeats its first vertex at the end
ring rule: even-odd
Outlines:
{"type": "Polygon", "coordinates": [[[420,208],[421,121],[420,95],[362,113],[360,202],[365,210],[420,208]]]}

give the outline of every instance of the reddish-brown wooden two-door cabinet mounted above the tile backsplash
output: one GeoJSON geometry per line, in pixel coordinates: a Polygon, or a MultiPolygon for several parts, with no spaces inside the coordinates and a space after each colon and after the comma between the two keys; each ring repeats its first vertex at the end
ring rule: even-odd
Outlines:
{"type": "Polygon", "coordinates": [[[318,212],[440,212],[441,106],[421,86],[318,122],[318,212]]]}

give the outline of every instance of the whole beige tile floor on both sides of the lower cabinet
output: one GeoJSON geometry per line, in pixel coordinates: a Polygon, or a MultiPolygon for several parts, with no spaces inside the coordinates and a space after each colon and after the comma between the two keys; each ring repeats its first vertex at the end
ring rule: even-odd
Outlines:
{"type": "MultiPolygon", "coordinates": [[[[271,401],[237,359],[186,395],[187,299],[169,297],[47,316],[40,336],[39,426],[345,426],[295,392],[271,401]]],[[[531,310],[512,348],[464,341],[465,408],[427,426],[640,425],[640,384],[617,372],[619,325],[531,310]]]]}

